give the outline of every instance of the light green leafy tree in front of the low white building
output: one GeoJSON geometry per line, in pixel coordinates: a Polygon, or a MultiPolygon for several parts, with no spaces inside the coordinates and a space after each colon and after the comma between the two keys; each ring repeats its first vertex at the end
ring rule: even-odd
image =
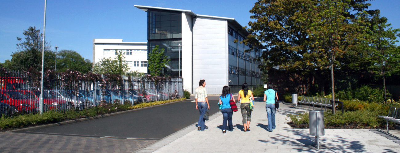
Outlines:
{"type": "Polygon", "coordinates": [[[117,51],[118,54],[115,59],[103,58],[93,66],[93,73],[96,74],[120,74],[124,75],[129,66],[125,61],[124,53],[122,50],[117,51]]]}

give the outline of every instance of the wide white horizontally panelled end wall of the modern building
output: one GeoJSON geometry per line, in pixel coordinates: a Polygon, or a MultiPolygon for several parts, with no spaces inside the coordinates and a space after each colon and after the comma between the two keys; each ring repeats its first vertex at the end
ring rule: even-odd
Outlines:
{"type": "Polygon", "coordinates": [[[193,88],[205,79],[208,94],[220,94],[228,85],[227,21],[196,17],[193,22],[193,88]]]}

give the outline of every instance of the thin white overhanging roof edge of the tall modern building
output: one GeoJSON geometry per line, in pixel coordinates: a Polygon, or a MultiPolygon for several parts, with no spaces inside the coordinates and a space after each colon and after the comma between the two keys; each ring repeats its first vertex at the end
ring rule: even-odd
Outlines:
{"type": "Polygon", "coordinates": [[[187,14],[191,14],[192,16],[195,17],[207,17],[207,18],[212,18],[212,19],[226,19],[230,25],[232,25],[235,30],[240,31],[240,33],[243,33],[245,36],[248,35],[248,31],[242,29],[242,25],[240,25],[240,23],[238,23],[238,21],[236,21],[234,18],[230,18],[230,17],[219,17],[219,16],[210,16],[210,15],[200,15],[200,14],[195,14],[194,12],[192,12],[191,10],[180,10],[180,9],[174,9],[174,8],[160,8],[160,7],[153,7],[153,6],[140,6],[140,5],[134,5],[136,8],[140,9],[140,10],[144,10],[145,12],[148,11],[148,9],[155,9],[155,10],[166,10],[166,11],[176,11],[176,12],[185,12],[187,14]]]}

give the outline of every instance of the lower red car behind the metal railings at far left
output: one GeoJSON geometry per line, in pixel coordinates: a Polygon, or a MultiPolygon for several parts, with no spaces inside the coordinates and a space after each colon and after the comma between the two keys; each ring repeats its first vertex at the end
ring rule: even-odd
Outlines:
{"type": "Polygon", "coordinates": [[[0,100],[2,103],[16,107],[17,110],[32,112],[36,110],[35,104],[37,99],[30,97],[13,90],[1,90],[0,100]]]}

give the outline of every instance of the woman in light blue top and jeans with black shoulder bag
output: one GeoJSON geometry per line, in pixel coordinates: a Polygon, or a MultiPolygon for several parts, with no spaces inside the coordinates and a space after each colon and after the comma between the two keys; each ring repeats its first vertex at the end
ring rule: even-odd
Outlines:
{"type": "Polygon", "coordinates": [[[278,94],[274,90],[271,83],[267,84],[267,90],[264,91],[264,101],[266,101],[265,109],[267,110],[268,131],[272,132],[275,129],[275,96],[278,99],[278,94]]]}

